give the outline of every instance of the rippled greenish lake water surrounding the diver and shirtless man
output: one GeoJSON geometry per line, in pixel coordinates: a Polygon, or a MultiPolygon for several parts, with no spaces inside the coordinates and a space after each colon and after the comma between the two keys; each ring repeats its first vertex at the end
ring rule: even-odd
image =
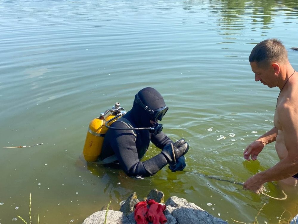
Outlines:
{"type": "MultiPolygon", "coordinates": [[[[254,81],[248,56],[278,38],[298,70],[296,0],[1,0],[0,11],[0,223],[29,223],[30,193],[32,223],[82,223],[153,188],[229,223],[288,223],[298,213],[294,187],[267,183],[267,194],[288,195],[278,201],[202,175],[244,182],[277,163],[274,144],[243,159],[273,127],[279,93],[254,81]],[[164,132],[190,144],[187,172],[134,179],[87,165],[89,122],[115,102],[129,111],[147,86],[170,108],[164,132]]],[[[157,153],[151,145],[145,159],[157,153]]]]}

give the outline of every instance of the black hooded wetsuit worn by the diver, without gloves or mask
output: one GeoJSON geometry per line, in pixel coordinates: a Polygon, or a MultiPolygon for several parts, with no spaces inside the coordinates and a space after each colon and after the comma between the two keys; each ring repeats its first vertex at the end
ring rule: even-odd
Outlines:
{"type": "MultiPolygon", "coordinates": [[[[165,106],[163,97],[153,88],[144,88],[138,92],[138,95],[141,101],[153,110],[165,106]]],[[[149,114],[135,101],[131,111],[128,111],[111,125],[111,127],[118,128],[144,128],[151,126],[149,114]]],[[[163,132],[155,135],[149,133],[149,130],[125,131],[108,129],[100,157],[105,159],[116,154],[117,162],[119,162],[119,165],[128,176],[152,176],[167,165],[169,159],[167,154],[160,153],[151,159],[141,162],[140,159],[148,150],[150,141],[160,149],[173,143],[163,132]]],[[[181,156],[179,160],[184,163],[184,168],[184,156],[181,156]]]]}

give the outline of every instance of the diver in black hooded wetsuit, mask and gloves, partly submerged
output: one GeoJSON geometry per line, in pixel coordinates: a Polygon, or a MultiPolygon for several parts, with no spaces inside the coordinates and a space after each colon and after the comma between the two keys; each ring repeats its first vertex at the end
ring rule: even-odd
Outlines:
{"type": "MultiPolygon", "coordinates": [[[[131,110],[113,122],[111,127],[126,129],[157,127],[159,125],[157,121],[162,120],[167,109],[160,93],[147,87],[136,94],[131,110]]],[[[182,171],[186,166],[183,155],[188,151],[188,143],[184,139],[174,143],[160,131],[150,133],[149,130],[108,129],[100,159],[116,155],[114,158],[117,159],[117,163],[128,176],[132,177],[152,176],[167,164],[170,165],[172,172],[182,171]],[[150,141],[162,151],[153,158],[141,162],[140,159],[148,150],[150,141]]]]}

